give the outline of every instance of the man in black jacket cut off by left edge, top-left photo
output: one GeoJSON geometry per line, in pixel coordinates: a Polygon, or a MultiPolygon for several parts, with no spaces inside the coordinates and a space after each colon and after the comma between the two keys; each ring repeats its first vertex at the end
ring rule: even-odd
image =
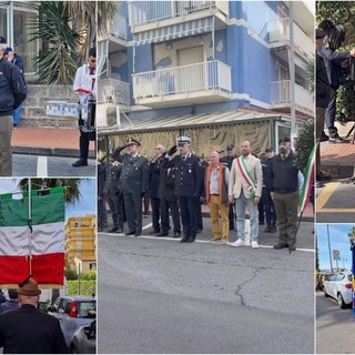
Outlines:
{"type": "Polygon", "coordinates": [[[0,38],[0,176],[12,176],[12,110],[27,97],[20,70],[4,57],[7,44],[0,38]]]}

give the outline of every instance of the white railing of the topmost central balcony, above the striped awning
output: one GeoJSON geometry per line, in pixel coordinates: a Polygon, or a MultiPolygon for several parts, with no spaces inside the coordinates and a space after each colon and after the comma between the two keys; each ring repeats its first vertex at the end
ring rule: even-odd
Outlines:
{"type": "Polygon", "coordinates": [[[130,1],[130,26],[145,24],[164,19],[193,13],[200,10],[217,8],[227,11],[220,1],[130,1]]]}

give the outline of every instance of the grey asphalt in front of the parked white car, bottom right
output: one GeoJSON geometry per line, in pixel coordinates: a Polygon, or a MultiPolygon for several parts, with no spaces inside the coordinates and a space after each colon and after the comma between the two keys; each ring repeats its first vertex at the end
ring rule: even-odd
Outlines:
{"type": "Polygon", "coordinates": [[[316,293],[316,353],[354,354],[353,310],[341,310],[335,300],[316,293]]]}

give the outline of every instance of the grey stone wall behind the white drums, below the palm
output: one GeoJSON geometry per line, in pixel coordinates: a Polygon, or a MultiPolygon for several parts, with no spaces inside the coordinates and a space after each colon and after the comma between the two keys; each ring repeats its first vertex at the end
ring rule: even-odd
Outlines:
{"type": "Polygon", "coordinates": [[[45,114],[48,101],[67,101],[75,103],[78,93],[72,85],[28,85],[29,93],[21,105],[21,126],[37,128],[78,128],[78,120],[45,114]]]}

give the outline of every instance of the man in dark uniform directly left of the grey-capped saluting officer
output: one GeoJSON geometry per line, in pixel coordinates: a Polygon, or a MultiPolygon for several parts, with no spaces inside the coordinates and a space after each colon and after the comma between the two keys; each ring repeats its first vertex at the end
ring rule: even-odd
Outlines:
{"type": "Polygon", "coordinates": [[[113,223],[109,233],[121,233],[123,231],[123,194],[119,186],[121,173],[122,164],[112,160],[106,168],[106,181],[103,189],[104,197],[109,204],[113,223]]]}

